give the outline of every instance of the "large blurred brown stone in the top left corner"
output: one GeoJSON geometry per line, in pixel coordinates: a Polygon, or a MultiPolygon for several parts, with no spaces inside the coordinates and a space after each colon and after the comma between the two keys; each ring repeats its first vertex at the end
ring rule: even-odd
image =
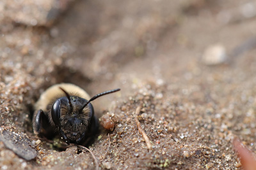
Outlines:
{"type": "Polygon", "coordinates": [[[70,7],[69,4],[73,1],[45,0],[34,3],[29,0],[3,1],[0,3],[0,13],[4,18],[10,18],[14,22],[31,26],[49,26],[70,7]]]}

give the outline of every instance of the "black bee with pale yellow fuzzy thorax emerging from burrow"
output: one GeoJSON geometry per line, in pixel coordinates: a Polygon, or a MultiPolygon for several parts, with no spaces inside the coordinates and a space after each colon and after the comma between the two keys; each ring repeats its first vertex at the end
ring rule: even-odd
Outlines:
{"type": "Polygon", "coordinates": [[[41,94],[35,104],[33,131],[37,136],[48,139],[58,135],[67,145],[86,146],[99,131],[99,122],[90,102],[119,90],[108,90],[90,98],[76,85],[53,85],[41,94]]]}

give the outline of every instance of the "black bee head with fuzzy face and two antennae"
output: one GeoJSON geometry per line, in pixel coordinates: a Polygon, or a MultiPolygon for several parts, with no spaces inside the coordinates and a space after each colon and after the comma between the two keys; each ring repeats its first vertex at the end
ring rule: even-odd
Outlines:
{"type": "Polygon", "coordinates": [[[60,131],[61,138],[67,144],[70,142],[78,144],[88,131],[94,116],[93,106],[90,102],[100,96],[120,90],[102,92],[87,101],[78,96],[70,96],[67,91],[61,87],[60,89],[65,93],[65,96],[60,97],[52,104],[51,117],[60,131]]]}

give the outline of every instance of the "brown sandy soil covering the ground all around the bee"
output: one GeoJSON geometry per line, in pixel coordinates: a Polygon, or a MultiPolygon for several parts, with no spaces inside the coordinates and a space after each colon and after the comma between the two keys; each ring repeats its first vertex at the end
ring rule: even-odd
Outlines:
{"type": "Polygon", "coordinates": [[[33,105],[60,82],[122,89],[92,103],[115,122],[90,146],[100,169],[242,169],[233,139],[256,152],[255,16],[238,0],[75,1],[52,25],[1,15],[1,169],[95,168],[32,133],[33,105]],[[209,66],[217,44],[227,58],[209,66]]]}

